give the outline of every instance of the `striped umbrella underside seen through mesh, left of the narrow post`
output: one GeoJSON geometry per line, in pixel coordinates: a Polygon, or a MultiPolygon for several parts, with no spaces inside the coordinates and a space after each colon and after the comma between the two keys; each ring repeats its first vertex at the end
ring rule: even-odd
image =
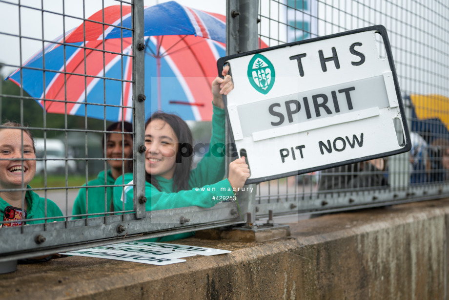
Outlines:
{"type": "MultiPolygon", "coordinates": [[[[75,43],[74,45],[85,45],[85,47],[101,50],[103,48],[102,41],[88,41],[85,44],[75,43]]],[[[44,60],[40,53],[25,64],[27,68],[16,71],[8,79],[22,86],[47,112],[98,119],[103,119],[106,115],[106,119],[111,121],[121,119],[121,109],[114,106],[127,105],[127,101],[122,102],[122,97],[128,98],[127,94],[122,95],[122,80],[132,80],[132,67],[130,67],[132,58],[99,50],[84,50],[76,46],[59,46],[45,53],[45,71],[42,70],[44,60]],[[20,74],[22,74],[22,85],[20,85],[20,74]],[[109,101],[109,98],[113,101],[109,101]]],[[[104,43],[106,51],[132,54],[130,38],[123,39],[123,51],[121,47],[122,43],[118,39],[107,40],[104,43]]],[[[129,83],[123,82],[123,85],[126,87],[129,83]]],[[[129,105],[131,106],[132,103],[129,105]]]]}

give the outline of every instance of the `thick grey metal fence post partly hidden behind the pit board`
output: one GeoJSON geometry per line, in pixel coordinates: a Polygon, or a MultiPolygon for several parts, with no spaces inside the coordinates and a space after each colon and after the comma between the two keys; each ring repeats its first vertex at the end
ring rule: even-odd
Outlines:
{"type": "MultiPolygon", "coordinates": [[[[250,51],[258,48],[258,7],[259,1],[257,0],[227,0],[226,55],[250,51]]],[[[226,130],[226,132],[228,132],[228,130],[226,130]]],[[[226,162],[226,165],[227,164],[228,162],[226,162]]],[[[248,185],[246,187],[255,188],[255,185],[248,185]]],[[[248,223],[253,223],[255,220],[255,199],[256,193],[246,191],[238,194],[238,201],[242,213],[245,216],[252,216],[251,220],[246,220],[248,223]]]]}

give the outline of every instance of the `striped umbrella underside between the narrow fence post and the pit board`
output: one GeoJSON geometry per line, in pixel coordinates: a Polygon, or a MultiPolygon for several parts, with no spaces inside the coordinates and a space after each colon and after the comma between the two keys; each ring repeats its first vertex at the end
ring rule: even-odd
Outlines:
{"type": "Polygon", "coordinates": [[[195,36],[150,37],[146,42],[146,113],[147,105],[151,105],[151,111],[158,110],[157,58],[160,57],[161,110],[179,113],[185,120],[211,120],[210,86],[217,76],[217,60],[225,56],[225,44],[195,36]],[[158,47],[159,56],[154,54],[158,47]]]}

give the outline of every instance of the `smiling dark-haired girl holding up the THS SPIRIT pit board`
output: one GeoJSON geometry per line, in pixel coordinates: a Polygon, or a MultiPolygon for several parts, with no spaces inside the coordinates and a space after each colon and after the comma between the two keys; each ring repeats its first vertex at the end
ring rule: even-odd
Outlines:
{"type": "MultiPolygon", "coordinates": [[[[145,123],[145,204],[146,211],[172,209],[186,206],[212,207],[214,197],[233,197],[234,191],[245,185],[249,177],[245,158],[229,164],[225,176],[225,110],[222,95],[227,95],[234,85],[227,75],[229,66],[212,82],[213,117],[209,151],[198,166],[191,170],[193,160],[192,133],[178,116],[163,112],[154,113],[145,123]],[[204,188],[204,189],[199,189],[204,188]],[[209,189],[208,189],[209,188],[209,189]],[[224,192],[222,192],[224,191],[224,192]]],[[[132,184],[133,174],[125,173],[116,185],[132,184]]],[[[114,187],[115,211],[133,210],[133,187],[114,187]]],[[[147,241],[167,241],[191,236],[184,233],[147,241]]]]}

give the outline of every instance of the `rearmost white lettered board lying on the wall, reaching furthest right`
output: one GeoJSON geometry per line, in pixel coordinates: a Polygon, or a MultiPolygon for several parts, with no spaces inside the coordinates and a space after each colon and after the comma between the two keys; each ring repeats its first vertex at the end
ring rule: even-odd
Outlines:
{"type": "Polygon", "coordinates": [[[221,250],[221,249],[206,248],[206,247],[166,244],[166,243],[156,243],[156,242],[141,242],[141,241],[124,242],[124,243],[120,243],[120,244],[115,244],[115,246],[118,246],[118,245],[127,245],[127,246],[134,246],[134,247],[140,247],[140,248],[146,247],[148,249],[158,249],[159,251],[184,252],[184,253],[192,253],[192,254],[203,255],[203,256],[212,256],[212,255],[218,255],[218,254],[224,254],[224,253],[231,252],[229,250],[221,250]]]}

